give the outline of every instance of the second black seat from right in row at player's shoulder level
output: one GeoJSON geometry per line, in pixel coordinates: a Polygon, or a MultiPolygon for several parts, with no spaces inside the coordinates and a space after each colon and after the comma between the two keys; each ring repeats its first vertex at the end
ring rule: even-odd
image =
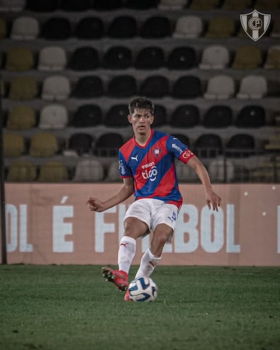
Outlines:
{"type": "Polygon", "coordinates": [[[194,153],[201,158],[215,158],[222,152],[221,137],[216,134],[202,134],[194,143],[194,153]]]}

